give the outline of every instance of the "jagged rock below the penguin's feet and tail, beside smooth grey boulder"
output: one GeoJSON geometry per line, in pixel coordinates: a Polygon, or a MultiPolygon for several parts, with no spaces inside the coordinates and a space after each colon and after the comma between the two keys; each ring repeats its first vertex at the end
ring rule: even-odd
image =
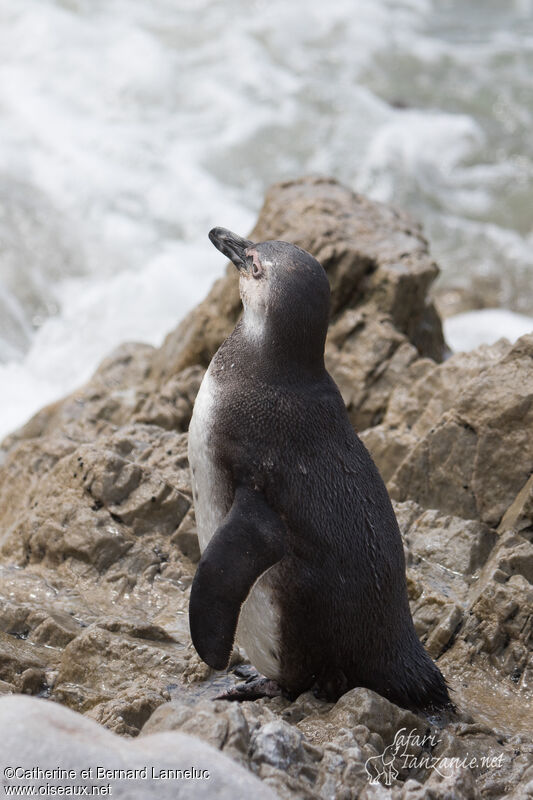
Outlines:
{"type": "Polygon", "coordinates": [[[159,706],[141,738],[168,730],[231,754],[280,797],[312,800],[400,800],[423,797],[423,790],[442,800],[481,797],[498,784],[527,785],[533,751],[526,737],[497,742],[487,728],[468,722],[443,728],[442,721],[435,725],[367,689],[354,689],[335,705],[310,694],[290,704],[276,698],[240,706],[174,699],[159,706]],[[370,783],[378,776],[383,783],[370,783]]]}

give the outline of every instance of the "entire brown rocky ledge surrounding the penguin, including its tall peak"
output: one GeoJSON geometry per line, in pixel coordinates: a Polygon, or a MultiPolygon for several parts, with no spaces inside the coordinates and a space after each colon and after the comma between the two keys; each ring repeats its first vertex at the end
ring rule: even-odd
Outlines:
{"type": "Polygon", "coordinates": [[[233,678],[190,643],[186,453],[202,375],[239,315],[229,268],[161,348],[123,345],[0,447],[10,757],[81,768],[108,751],[119,767],[167,764],[173,748],[176,764],[207,759],[221,796],[233,773],[233,796],[531,796],[533,335],[447,358],[419,227],[335,181],[272,187],[251,238],[292,241],[328,272],[328,367],[388,483],[416,629],[458,713],[416,716],[366,689],[334,705],[213,701],[233,678]]]}

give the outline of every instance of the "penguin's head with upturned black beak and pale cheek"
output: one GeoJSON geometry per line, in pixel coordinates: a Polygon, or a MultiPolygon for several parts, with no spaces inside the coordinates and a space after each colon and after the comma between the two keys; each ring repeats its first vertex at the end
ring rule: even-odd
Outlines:
{"type": "Polygon", "coordinates": [[[322,359],[330,289],[316,258],[288,242],[254,243],[225,228],[213,228],[209,238],[239,270],[244,333],[297,359],[322,359]]]}

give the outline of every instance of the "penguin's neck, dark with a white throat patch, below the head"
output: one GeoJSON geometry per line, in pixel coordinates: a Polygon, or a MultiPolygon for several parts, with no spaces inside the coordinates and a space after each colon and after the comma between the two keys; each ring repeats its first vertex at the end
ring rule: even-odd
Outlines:
{"type": "Polygon", "coordinates": [[[324,375],[325,335],[320,332],[312,336],[308,331],[273,325],[247,309],[235,333],[248,369],[267,378],[292,381],[324,375]]]}

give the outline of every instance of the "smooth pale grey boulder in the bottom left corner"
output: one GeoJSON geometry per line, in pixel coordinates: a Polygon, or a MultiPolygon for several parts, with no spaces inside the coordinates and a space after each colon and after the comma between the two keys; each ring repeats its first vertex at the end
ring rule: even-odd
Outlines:
{"type": "Polygon", "coordinates": [[[109,795],[128,800],[276,798],[250,772],[199,739],[172,732],[127,740],[43,700],[2,697],[0,736],[4,792],[7,787],[23,786],[33,786],[38,791],[50,784],[65,787],[65,794],[79,794],[79,788],[76,792],[74,787],[85,786],[89,794],[92,787],[109,787],[109,795]],[[14,776],[6,774],[10,767],[17,769],[14,776]],[[38,776],[38,770],[57,773],[33,777],[38,776]],[[70,770],[69,775],[66,771],[70,770]],[[140,772],[122,773],[121,777],[114,770],[140,772]]]}

